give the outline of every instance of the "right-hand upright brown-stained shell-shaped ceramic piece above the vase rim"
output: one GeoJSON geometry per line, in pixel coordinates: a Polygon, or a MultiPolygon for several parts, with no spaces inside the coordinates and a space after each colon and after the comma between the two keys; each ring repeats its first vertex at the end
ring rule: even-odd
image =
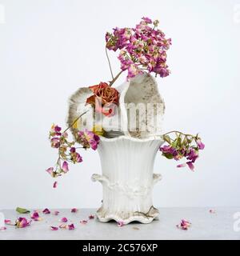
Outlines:
{"type": "MultiPolygon", "coordinates": [[[[121,111],[127,118],[125,134],[135,138],[149,138],[162,132],[164,101],[158,83],[150,74],[138,74],[123,84],[120,97],[121,111]]],[[[117,88],[118,89],[118,88],[117,88]]]]}

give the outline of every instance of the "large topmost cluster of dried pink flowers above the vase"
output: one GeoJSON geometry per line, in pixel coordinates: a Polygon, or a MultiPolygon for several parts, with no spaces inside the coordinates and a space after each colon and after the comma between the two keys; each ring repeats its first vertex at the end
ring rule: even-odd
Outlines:
{"type": "Polygon", "coordinates": [[[113,33],[106,33],[106,48],[120,50],[118,59],[121,69],[127,70],[127,78],[147,70],[164,78],[170,74],[166,65],[166,50],[171,39],[166,39],[162,30],[158,29],[158,20],[152,22],[143,17],[134,28],[118,28],[113,33]]]}

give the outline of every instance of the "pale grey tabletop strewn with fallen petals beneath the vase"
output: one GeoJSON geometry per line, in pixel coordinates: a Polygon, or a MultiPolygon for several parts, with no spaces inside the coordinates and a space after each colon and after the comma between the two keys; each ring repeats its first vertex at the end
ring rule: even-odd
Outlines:
{"type": "MultiPolygon", "coordinates": [[[[89,220],[86,225],[81,224],[80,221],[94,214],[95,209],[80,209],[75,214],[69,209],[62,209],[59,210],[58,216],[41,214],[42,221],[32,222],[31,226],[26,228],[6,226],[6,230],[0,231],[0,240],[240,239],[240,230],[234,231],[234,222],[237,221],[234,219],[234,214],[240,212],[240,207],[214,208],[216,211],[214,214],[210,214],[210,208],[159,208],[159,210],[159,219],[150,224],[130,223],[118,227],[116,222],[102,223],[97,218],[89,220]],[[75,230],[50,230],[50,226],[59,226],[62,217],[73,222],[75,230]],[[182,218],[192,223],[189,230],[179,230],[176,227],[182,218]]],[[[5,214],[6,219],[12,221],[19,216],[30,219],[30,214],[18,214],[15,210],[0,210],[0,212],[5,214]]],[[[240,228],[240,224],[237,226],[240,228]]]]}

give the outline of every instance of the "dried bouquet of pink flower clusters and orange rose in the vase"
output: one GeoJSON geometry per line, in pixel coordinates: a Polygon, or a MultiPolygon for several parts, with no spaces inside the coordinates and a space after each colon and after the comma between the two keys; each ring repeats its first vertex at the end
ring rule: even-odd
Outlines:
{"type": "MultiPolygon", "coordinates": [[[[89,97],[84,104],[95,114],[101,114],[105,118],[113,118],[116,107],[119,105],[120,92],[113,87],[119,76],[126,71],[126,81],[137,77],[139,74],[154,74],[155,77],[165,78],[170,74],[166,64],[166,51],[169,50],[171,39],[158,28],[158,20],[152,21],[150,18],[142,18],[134,28],[114,28],[110,33],[106,33],[106,57],[110,66],[111,81],[100,82],[94,86],[89,86],[89,97]],[[108,50],[118,52],[118,60],[121,69],[114,76],[110,65],[108,50]]],[[[69,163],[82,162],[79,150],[96,150],[101,143],[101,136],[105,136],[106,131],[102,126],[95,125],[91,130],[79,130],[78,121],[88,112],[79,114],[72,122],[68,122],[65,130],[53,124],[50,128],[50,146],[58,150],[58,158],[54,167],[46,171],[56,178],[69,171],[69,163]],[[73,138],[69,138],[71,130],[73,138]]],[[[117,135],[116,135],[117,136],[117,135]]],[[[198,158],[199,150],[204,149],[201,138],[197,135],[184,134],[181,131],[170,131],[162,134],[165,144],[159,148],[162,155],[168,159],[186,161],[177,167],[188,166],[194,170],[194,162],[198,158]]],[[[57,182],[54,182],[54,187],[57,182]]]]}

